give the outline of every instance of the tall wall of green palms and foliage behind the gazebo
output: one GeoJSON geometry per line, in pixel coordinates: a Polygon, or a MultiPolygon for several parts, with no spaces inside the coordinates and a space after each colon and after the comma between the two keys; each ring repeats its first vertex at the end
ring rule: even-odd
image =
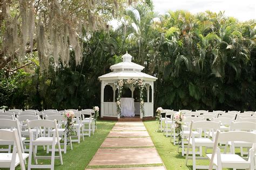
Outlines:
{"type": "Polygon", "coordinates": [[[71,51],[69,67],[50,62],[43,73],[38,65],[16,73],[0,70],[0,105],[38,110],[100,105],[98,76],[109,73],[128,51],[145,73],[158,77],[155,108],[255,110],[253,20],[239,22],[210,11],[158,16],[151,3],[138,3],[123,17],[126,22],[115,30],[84,30],[79,66],[71,51]]]}

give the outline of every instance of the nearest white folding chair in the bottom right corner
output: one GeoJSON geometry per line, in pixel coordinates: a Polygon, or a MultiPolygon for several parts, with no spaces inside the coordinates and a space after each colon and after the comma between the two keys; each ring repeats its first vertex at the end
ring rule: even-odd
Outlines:
{"type": "Polygon", "coordinates": [[[255,143],[256,143],[256,134],[251,132],[243,131],[230,131],[230,132],[220,132],[217,131],[216,139],[213,147],[212,154],[207,154],[208,159],[210,159],[209,169],[222,168],[233,168],[233,169],[254,169],[254,155],[255,155],[255,143]],[[249,151],[248,160],[243,159],[239,155],[234,153],[234,145],[232,145],[231,154],[221,154],[220,148],[218,147],[219,143],[227,143],[234,141],[244,141],[246,143],[254,143],[249,151]]]}

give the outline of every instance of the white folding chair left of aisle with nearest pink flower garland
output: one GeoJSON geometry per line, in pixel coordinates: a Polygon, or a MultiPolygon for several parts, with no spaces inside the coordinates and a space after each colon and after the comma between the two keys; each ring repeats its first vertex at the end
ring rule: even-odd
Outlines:
{"type": "MultiPolygon", "coordinates": [[[[46,120],[50,120],[50,121],[56,120],[57,121],[59,137],[63,137],[64,136],[64,138],[63,138],[64,143],[63,144],[60,143],[60,145],[64,145],[64,148],[61,148],[61,151],[66,153],[66,146],[68,145],[68,139],[67,139],[67,136],[66,136],[65,128],[62,128],[62,125],[67,122],[67,119],[64,116],[62,116],[62,115],[51,115],[51,116],[46,115],[46,120]]],[[[53,129],[51,131],[51,134],[54,131],[56,131],[56,129],[53,129]]],[[[69,143],[70,143],[71,150],[73,150],[71,136],[69,137],[69,143]]],[[[47,153],[48,152],[49,152],[49,146],[47,146],[47,153]]]]}

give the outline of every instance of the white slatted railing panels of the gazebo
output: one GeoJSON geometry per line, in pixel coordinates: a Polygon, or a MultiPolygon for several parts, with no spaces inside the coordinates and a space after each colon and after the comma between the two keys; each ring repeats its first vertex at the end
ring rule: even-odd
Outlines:
{"type": "MultiPolygon", "coordinates": [[[[140,115],[140,103],[134,103],[135,115],[140,115]]],[[[144,103],[145,115],[144,117],[153,116],[153,103],[144,103]]],[[[117,103],[116,102],[104,102],[101,109],[101,114],[104,117],[117,117],[117,103]]]]}

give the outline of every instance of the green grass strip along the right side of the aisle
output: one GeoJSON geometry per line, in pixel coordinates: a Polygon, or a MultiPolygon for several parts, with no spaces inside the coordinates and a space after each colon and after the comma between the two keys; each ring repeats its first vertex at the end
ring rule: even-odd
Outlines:
{"type": "MultiPolygon", "coordinates": [[[[171,138],[166,138],[163,132],[157,132],[158,124],[156,121],[144,122],[150,137],[157,148],[157,151],[164,162],[166,169],[193,169],[192,160],[188,160],[188,166],[186,166],[185,158],[181,156],[181,148],[178,153],[178,146],[170,143],[171,138]]],[[[238,149],[236,149],[239,152],[238,149]]],[[[212,150],[208,149],[207,153],[211,153],[212,150]]],[[[205,156],[204,148],[203,155],[205,156]]],[[[209,165],[208,160],[197,160],[197,165],[209,165]]]]}

